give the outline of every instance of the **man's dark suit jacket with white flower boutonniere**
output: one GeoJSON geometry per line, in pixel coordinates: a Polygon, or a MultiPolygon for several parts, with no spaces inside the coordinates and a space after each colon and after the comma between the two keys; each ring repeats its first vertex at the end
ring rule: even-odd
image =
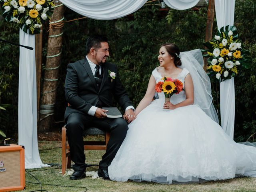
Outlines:
{"type": "Polygon", "coordinates": [[[113,99],[125,109],[132,105],[128,95],[122,86],[116,65],[106,62],[102,64],[102,82],[97,86],[97,82],[92,74],[92,70],[87,59],[82,59],[68,64],[65,81],[65,96],[71,106],[66,108],[65,119],[72,112],[87,114],[92,106],[111,107],[113,99]],[[108,70],[116,73],[116,78],[112,80],[108,70]]]}

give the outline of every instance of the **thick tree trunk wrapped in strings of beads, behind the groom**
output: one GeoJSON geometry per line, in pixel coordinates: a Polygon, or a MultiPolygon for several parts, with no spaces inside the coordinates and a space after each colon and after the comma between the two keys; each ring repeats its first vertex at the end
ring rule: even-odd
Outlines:
{"type": "Polygon", "coordinates": [[[46,65],[44,69],[43,87],[41,93],[39,132],[47,132],[53,123],[54,104],[60,67],[62,49],[62,33],[64,5],[55,0],[55,8],[50,21],[46,65]],[[62,6],[58,6],[61,5],[62,6]]]}

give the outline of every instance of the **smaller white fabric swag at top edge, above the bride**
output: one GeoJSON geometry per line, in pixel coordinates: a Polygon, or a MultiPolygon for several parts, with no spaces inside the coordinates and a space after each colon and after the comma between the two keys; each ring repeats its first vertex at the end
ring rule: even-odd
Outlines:
{"type": "Polygon", "coordinates": [[[173,9],[185,10],[198,4],[199,0],[164,0],[164,3],[173,9]]]}

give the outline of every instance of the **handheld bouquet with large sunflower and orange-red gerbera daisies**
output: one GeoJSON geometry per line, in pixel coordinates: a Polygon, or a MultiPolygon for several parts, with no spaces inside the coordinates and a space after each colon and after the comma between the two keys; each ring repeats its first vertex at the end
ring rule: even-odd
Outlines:
{"type": "Polygon", "coordinates": [[[156,92],[164,92],[165,102],[169,101],[173,94],[179,94],[183,88],[183,83],[178,79],[172,79],[170,77],[162,78],[155,86],[156,92]]]}

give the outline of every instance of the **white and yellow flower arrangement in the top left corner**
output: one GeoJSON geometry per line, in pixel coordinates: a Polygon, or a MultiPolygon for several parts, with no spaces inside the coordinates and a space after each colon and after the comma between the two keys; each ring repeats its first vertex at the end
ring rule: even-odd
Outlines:
{"type": "Polygon", "coordinates": [[[40,33],[43,22],[52,15],[53,0],[0,0],[3,17],[15,22],[24,32],[40,33]]]}

